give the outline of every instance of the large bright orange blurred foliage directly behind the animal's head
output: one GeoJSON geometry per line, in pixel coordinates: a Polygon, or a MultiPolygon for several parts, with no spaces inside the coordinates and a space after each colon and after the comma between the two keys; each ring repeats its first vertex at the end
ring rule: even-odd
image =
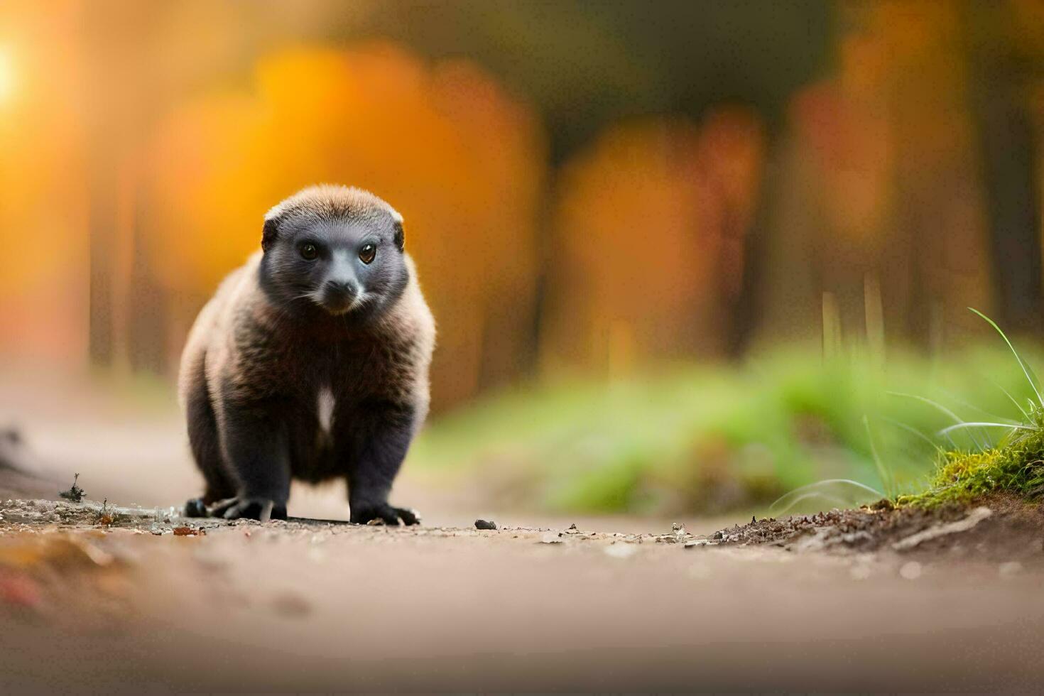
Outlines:
{"type": "Polygon", "coordinates": [[[544,146],[526,105],[467,62],[386,43],[258,63],[251,94],[179,109],[152,148],[150,259],[193,312],[258,247],[265,211],[318,182],[367,188],[406,220],[438,319],[434,392],[518,374],[532,322],[544,146]],[[441,382],[441,383],[438,383],[441,382]]]}

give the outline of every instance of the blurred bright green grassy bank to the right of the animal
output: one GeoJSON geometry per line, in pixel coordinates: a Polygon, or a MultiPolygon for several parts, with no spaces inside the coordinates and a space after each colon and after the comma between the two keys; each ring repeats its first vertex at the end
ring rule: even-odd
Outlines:
{"type": "Polygon", "coordinates": [[[742,365],[563,380],[438,418],[411,465],[550,511],[765,509],[784,495],[793,509],[851,505],[939,487],[941,449],[988,458],[1002,429],[939,433],[1022,418],[1009,395],[1024,408],[1034,393],[1013,366],[995,344],[883,363],[824,363],[817,346],[799,346],[742,365]]]}

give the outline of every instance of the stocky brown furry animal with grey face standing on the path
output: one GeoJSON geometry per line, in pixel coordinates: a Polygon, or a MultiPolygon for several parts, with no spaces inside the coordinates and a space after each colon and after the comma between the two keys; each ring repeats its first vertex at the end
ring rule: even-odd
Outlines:
{"type": "Polygon", "coordinates": [[[272,208],[261,251],[221,283],[182,355],[206,479],[186,514],[285,519],[291,479],[345,477],[352,522],[417,524],[388,493],[427,415],[434,335],[388,203],[317,186],[272,208]]]}

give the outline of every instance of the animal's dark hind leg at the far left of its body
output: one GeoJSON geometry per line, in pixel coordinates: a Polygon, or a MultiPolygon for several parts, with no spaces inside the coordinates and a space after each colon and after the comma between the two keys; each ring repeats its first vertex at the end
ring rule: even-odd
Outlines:
{"type": "Polygon", "coordinates": [[[206,480],[206,490],[203,498],[195,498],[186,503],[185,513],[188,517],[207,517],[208,505],[236,495],[236,486],[221,457],[217,419],[210,404],[207,380],[203,370],[200,364],[194,384],[189,390],[185,410],[188,418],[189,447],[196,466],[206,480]]]}

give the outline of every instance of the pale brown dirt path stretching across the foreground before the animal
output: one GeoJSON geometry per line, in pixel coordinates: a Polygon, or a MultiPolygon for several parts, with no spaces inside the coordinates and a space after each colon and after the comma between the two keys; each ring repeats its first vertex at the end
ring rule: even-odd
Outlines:
{"type": "Polygon", "coordinates": [[[96,508],[64,502],[0,515],[8,692],[1006,690],[1044,676],[1039,548],[997,562],[593,522],[206,521],[175,535],[185,521],[89,526],[96,508]]]}

